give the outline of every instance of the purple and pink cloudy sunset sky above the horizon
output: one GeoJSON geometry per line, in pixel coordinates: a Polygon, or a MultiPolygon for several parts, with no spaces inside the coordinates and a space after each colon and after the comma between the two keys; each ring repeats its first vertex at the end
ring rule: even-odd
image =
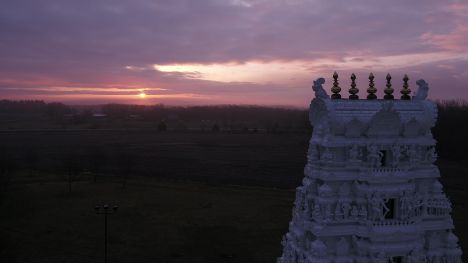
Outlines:
{"type": "Polygon", "coordinates": [[[1,99],[307,107],[334,71],[468,99],[468,1],[0,2],[1,99]]]}

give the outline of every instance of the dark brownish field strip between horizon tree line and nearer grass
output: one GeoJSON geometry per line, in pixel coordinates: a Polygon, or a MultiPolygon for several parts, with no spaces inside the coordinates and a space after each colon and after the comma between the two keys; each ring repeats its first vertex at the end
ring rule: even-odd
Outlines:
{"type": "MultiPolygon", "coordinates": [[[[131,154],[133,173],[208,183],[294,188],[302,179],[310,135],[177,133],[155,131],[3,132],[0,146],[18,159],[37,154],[37,169],[63,168],[71,152],[85,156],[105,153],[103,172],[116,175],[121,154],[131,154]]],[[[85,165],[85,163],[83,163],[85,165]]]]}

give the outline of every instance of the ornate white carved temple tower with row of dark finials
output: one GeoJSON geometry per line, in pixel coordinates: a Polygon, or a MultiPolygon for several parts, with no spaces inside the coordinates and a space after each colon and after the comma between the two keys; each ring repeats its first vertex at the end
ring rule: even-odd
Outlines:
{"type": "Polygon", "coordinates": [[[398,100],[388,74],[378,99],[371,73],[367,99],[358,99],[353,74],[343,99],[333,79],[332,96],[323,78],[312,87],[305,177],[277,263],[461,262],[434,165],[437,107],[427,83],[418,80],[410,97],[405,75],[398,100]]]}

